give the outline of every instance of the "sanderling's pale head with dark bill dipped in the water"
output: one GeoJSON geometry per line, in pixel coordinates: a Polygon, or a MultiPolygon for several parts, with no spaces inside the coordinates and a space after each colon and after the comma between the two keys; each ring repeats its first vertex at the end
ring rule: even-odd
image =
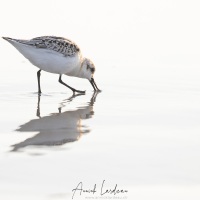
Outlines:
{"type": "Polygon", "coordinates": [[[90,83],[95,91],[101,91],[98,89],[98,87],[94,81],[94,78],[93,78],[94,72],[95,72],[94,63],[88,58],[83,58],[81,68],[82,68],[82,77],[86,78],[90,81],[90,83]]]}

